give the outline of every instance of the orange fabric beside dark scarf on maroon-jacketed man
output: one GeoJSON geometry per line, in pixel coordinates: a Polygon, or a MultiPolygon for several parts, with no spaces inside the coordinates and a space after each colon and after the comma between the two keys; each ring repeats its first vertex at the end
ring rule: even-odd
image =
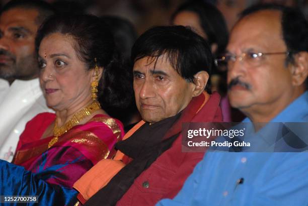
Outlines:
{"type": "MultiPolygon", "coordinates": [[[[138,130],[145,122],[140,121],[123,137],[123,140],[129,138],[136,130],[138,130]]],[[[110,179],[118,173],[125,164],[121,161],[124,154],[118,151],[115,157],[111,159],[103,159],[86,172],[79,180],[77,180],[73,188],[80,192],[79,200],[85,203],[99,189],[104,187],[110,179]],[[105,161],[107,160],[107,161],[105,161]],[[82,196],[82,198],[80,198],[82,196]]]]}

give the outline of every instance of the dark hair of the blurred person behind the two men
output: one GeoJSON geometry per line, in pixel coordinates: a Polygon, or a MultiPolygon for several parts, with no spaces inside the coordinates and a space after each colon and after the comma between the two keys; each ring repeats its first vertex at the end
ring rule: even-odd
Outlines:
{"type": "Polygon", "coordinates": [[[217,44],[217,51],[214,56],[225,51],[228,43],[228,30],[222,14],[212,4],[204,1],[188,1],[178,7],[171,17],[171,21],[184,11],[196,13],[201,22],[201,28],[207,36],[209,45],[217,44]]]}

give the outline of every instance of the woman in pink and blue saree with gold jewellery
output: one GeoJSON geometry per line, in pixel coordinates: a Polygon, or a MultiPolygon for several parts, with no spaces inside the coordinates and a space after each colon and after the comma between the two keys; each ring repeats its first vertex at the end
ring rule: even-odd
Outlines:
{"type": "Polygon", "coordinates": [[[56,114],[39,114],[27,124],[14,158],[23,167],[0,161],[6,177],[0,194],[39,195],[40,205],[66,205],[76,196],[72,184],[112,157],[124,134],[101,108],[125,107],[131,95],[125,84],[110,81],[125,73],[98,17],[53,16],[38,31],[36,49],[40,84],[56,114]]]}

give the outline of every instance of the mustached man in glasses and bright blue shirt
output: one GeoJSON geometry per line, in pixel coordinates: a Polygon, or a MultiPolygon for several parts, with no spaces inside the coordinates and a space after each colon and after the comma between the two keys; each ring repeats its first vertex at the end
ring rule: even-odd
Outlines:
{"type": "MultiPolygon", "coordinates": [[[[295,9],[266,5],[242,13],[216,63],[227,65],[230,104],[256,133],[264,129],[258,123],[308,122],[307,51],[308,24],[295,9]]],[[[212,151],[177,196],[158,205],[308,205],[307,194],[306,152],[212,151]]]]}

